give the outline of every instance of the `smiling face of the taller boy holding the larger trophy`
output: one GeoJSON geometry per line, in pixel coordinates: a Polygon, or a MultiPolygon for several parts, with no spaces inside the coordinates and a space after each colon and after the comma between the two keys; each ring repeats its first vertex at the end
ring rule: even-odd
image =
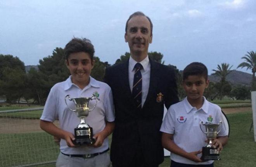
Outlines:
{"type": "Polygon", "coordinates": [[[69,55],[66,64],[71,73],[72,82],[80,88],[84,88],[89,83],[94,65],[90,55],[86,52],[72,53],[69,55]]]}

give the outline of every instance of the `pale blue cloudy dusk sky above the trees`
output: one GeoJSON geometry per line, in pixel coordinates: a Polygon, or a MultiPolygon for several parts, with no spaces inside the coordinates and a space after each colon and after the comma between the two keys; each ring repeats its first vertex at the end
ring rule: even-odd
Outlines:
{"type": "Polygon", "coordinates": [[[125,23],[136,11],[153,23],[149,51],[180,70],[194,61],[209,73],[223,62],[236,69],[247,51],[256,52],[255,0],[0,0],[0,54],[37,65],[73,37],[86,37],[95,56],[114,64],[129,52],[125,23]]]}

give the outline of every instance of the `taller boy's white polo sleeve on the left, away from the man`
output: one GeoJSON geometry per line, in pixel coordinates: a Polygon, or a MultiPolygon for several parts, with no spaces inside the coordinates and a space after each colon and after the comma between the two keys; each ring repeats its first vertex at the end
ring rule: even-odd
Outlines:
{"type": "Polygon", "coordinates": [[[54,122],[55,119],[58,117],[57,116],[57,110],[56,110],[56,106],[57,106],[57,93],[54,89],[55,87],[52,87],[52,89],[50,90],[50,93],[47,97],[47,100],[45,102],[45,106],[43,108],[43,113],[42,116],[40,118],[40,120],[44,120],[44,121],[50,121],[50,122],[54,122]]]}

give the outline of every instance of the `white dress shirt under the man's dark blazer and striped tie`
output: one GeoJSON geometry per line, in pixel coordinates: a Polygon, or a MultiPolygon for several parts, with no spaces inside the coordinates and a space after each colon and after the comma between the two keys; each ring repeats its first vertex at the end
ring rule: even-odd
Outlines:
{"type": "MultiPolygon", "coordinates": [[[[129,67],[128,67],[128,76],[129,76],[129,84],[130,84],[130,89],[132,92],[132,87],[133,87],[133,78],[134,78],[134,73],[135,69],[134,66],[137,63],[131,56],[129,59],[129,67]]],[[[143,107],[146,98],[147,98],[147,93],[149,92],[149,81],[150,81],[150,63],[149,63],[149,56],[147,56],[144,60],[139,62],[143,69],[140,70],[141,76],[142,76],[142,100],[141,100],[141,105],[143,107]]]]}

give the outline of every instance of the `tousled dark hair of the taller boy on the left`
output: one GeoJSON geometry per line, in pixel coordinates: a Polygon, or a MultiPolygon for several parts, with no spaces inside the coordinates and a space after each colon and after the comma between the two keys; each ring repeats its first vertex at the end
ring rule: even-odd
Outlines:
{"type": "Polygon", "coordinates": [[[93,61],[94,46],[89,39],[86,38],[73,38],[65,46],[65,57],[68,57],[72,53],[85,52],[90,55],[91,61],[93,61]]]}

